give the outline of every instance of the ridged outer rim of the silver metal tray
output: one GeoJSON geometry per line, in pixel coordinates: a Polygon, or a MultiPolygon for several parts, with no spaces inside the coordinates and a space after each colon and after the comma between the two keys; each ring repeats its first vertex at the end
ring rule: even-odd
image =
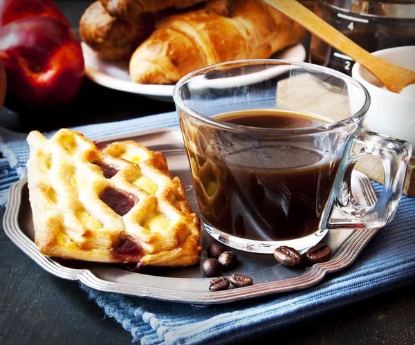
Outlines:
{"type": "MultiPolygon", "coordinates": [[[[134,136],[146,136],[152,133],[163,131],[174,131],[172,127],[160,128],[138,133],[129,133],[128,135],[105,137],[98,142],[107,142],[132,138],[134,136]]],[[[362,189],[365,192],[365,199],[368,203],[376,201],[376,194],[370,183],[369,178],[359,171],[354,171],[362,189]]],[[[223,290],[216,292],[195,292],[195,291],[177,291],[169,288],[158,288],[154,286],[143,286],[129,283],[116,283],[97,277],[89,269],[68,268],[57,261],[44,256],[37,250],[35,243],[22,232],[18,223],[19,207],[21,205],[21,194],[26,187],[27,178],[21,178],[15,182],[9,191],[8,205],[3,216],[3,228],[9,239],[17,245],[20,250],[28,255],[35,263],[44,270],[62,279],[78,280],[90,288],[104,292],[115,292],[137,297],[147,297],[151,299],[160,299],[165,301],[176,301],[189,304],[222,304],[241,299],[260,297],[275,294],[277,292],[287,292],[291,290],[302,290],[314,286],[324,279],[326,274],[347,268],[356,260],[358,254],[365,248],[365,245],[378,232],[378,229],[364,230],[355,232],[344,243],[342,249],[333,259],[326,263],[317,263],[299,277],[284,279],[282,281],[270,281],[266,283],[257,283],[244,288],[223,290]]],[[[136,273],[140,274],[140,273],[136,273]]],[[[180,278],[178,278],[180,279],[180,278]]]]}

